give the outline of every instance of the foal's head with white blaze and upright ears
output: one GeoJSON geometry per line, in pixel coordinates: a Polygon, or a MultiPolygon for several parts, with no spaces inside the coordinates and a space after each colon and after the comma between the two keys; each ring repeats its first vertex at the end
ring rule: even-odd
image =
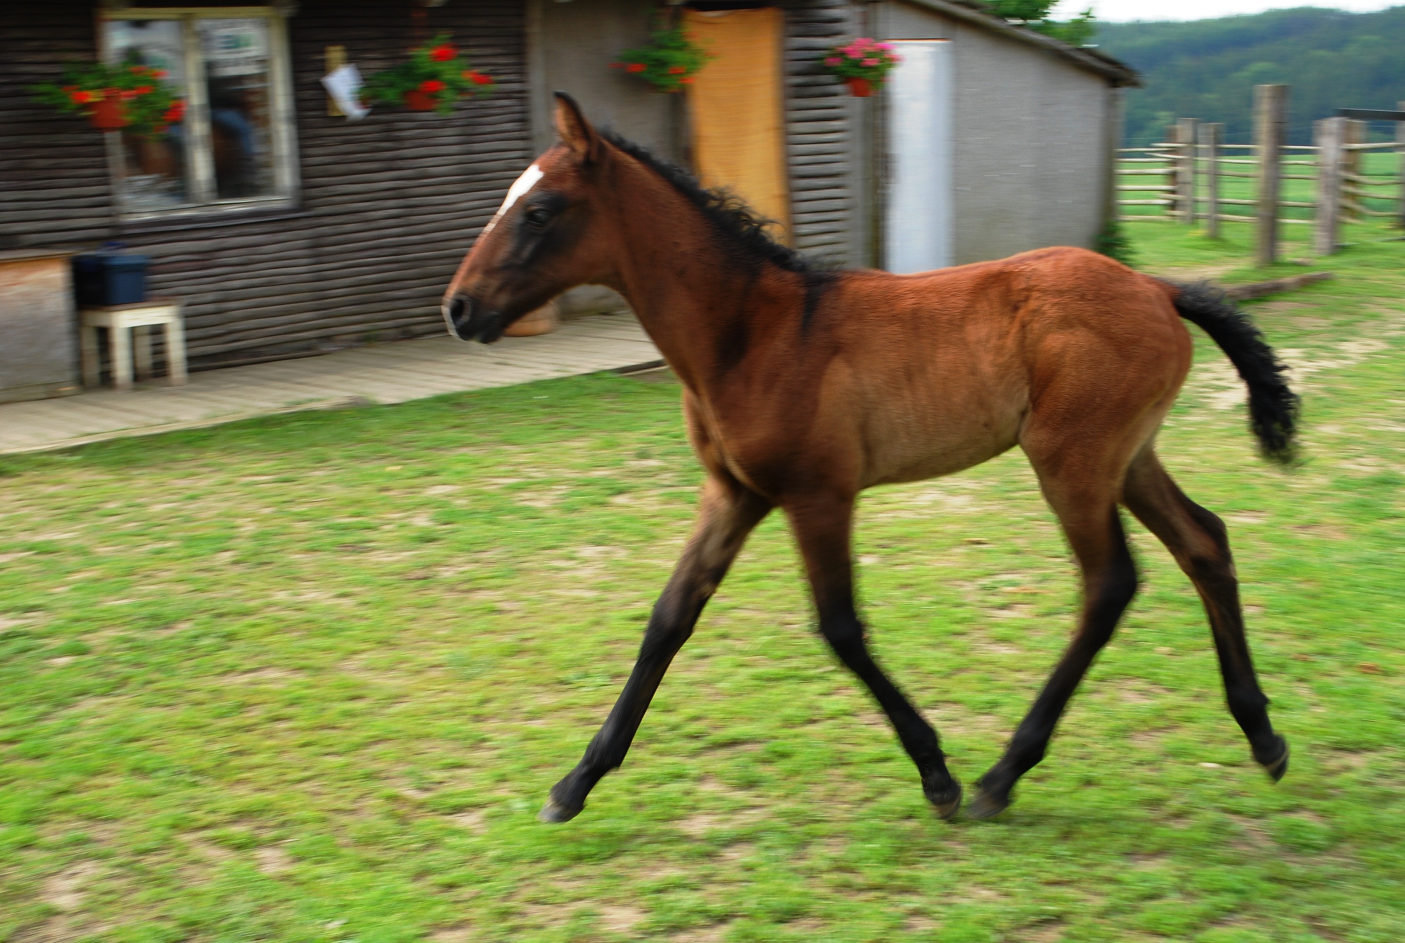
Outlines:
{"type": "Polygon", "coordinates": [[[614,215],[597,186],[608,148],[559,91],[556,132],[561,143],[511,186],[444,292],[444,320],[462,340],[490,344],[566,288],[611,274],[614,215]]]}

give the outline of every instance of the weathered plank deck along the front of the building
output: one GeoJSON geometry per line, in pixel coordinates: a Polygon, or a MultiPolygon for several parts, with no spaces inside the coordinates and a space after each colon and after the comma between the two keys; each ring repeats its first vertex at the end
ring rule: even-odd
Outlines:
{"type": "Polygon", "coordinates": [[[355,347],[192,374],[185,386],[164,378],[131,392],[97,389],[0,405],[0,454],[194,429],[298,409],[407,399],[532,379],[590,374],[658,361],[660,354],[632,316],[570,320],[541,337],[504,337],[492,346],[450,336],[355,347]]]}

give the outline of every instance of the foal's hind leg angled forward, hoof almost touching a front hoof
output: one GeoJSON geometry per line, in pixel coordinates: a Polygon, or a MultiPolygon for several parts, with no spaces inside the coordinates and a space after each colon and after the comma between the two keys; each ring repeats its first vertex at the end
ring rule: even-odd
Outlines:
{"type": "Polygon", "coordinates": [[[1137,568],[1117,514],[1116,488],[1109,478],[1096,472],[1085,476],[1076,462],[1071,462],[1075,469],[1066,476],[1048,475],[1037,458],[1034,464],[1041,472],[1044,496],[1058,514],[1083,571],[1083,613],[1073,641],[1016,728],[1005,756],[981,777],[981,791],[967,808],[972,818],[989,818],[1007,807],[1016,781],[1044,759],[1054,727],[1073,690],[1113,637],[1117,620],[1137,592],[1137,568]]]}

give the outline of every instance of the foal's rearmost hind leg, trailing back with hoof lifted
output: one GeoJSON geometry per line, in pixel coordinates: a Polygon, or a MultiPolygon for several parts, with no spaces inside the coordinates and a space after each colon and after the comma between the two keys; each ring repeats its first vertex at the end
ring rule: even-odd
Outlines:
{"type": "Polygon", "coordinates": [[[1269,698],[1259,690],[1253,673],[1239,610],[1239,582],[1224,523],[1186,497],[1149,448],[1132,461],[1123,500],[1166,544],[1196,585],[1214,632],[1229,713],[1249,738],[1253,757],[1269,776],[1281,779],[1288,770],[1288,745],[1273,732],[1269,698]]]}

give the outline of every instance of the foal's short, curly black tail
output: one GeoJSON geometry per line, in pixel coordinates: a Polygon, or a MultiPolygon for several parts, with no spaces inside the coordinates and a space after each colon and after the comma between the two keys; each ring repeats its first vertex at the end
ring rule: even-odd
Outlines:
{"type": "Polygon", "coordinates": [[[1176,312],[1220,344],[1249,386],[1249,427],[1259,437],[1264,458],[1287,465],[1297,453],[1293,436],[1298,426],[1298,396],[1284,379],[1287,367],[1249,316],[1224,291],[1207,281],[1175,288],[1176,312]]]}

